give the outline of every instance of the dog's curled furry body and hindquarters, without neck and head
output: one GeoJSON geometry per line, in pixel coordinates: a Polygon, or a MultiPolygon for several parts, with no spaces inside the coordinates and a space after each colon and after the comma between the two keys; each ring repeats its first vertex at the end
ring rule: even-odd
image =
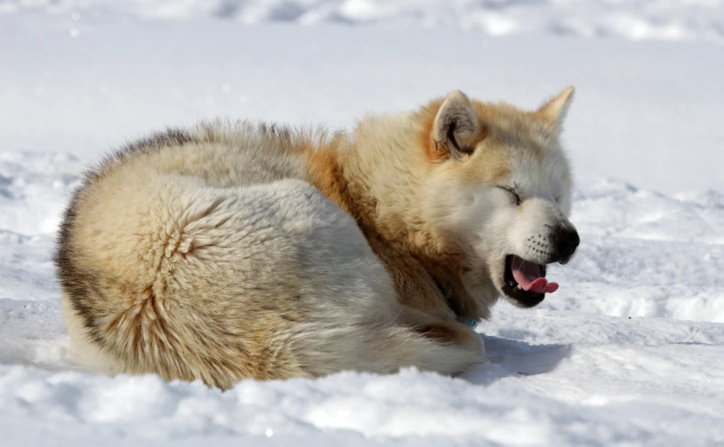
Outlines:
{"type": "Polygon", "coordinates": [[[204,124],[90,172],[56,256],[78,357],[224,388],[481,361],[477,337],[429,336],[445,324],[398,303],[355,221],[310,184],[304,151],[323,140],[204,124]]]}

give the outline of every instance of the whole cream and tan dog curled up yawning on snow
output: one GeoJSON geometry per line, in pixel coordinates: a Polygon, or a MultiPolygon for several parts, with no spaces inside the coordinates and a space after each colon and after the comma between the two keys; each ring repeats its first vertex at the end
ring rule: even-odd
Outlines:
{"type": "Polygon", "coordinates": [[[78,359],[232,387],[485,358],[465,322],[532,307],[578,245],[559,143],[535,111],[463,92],[352,132],[217,121],[86,173],[56,263],[78,359]]]}

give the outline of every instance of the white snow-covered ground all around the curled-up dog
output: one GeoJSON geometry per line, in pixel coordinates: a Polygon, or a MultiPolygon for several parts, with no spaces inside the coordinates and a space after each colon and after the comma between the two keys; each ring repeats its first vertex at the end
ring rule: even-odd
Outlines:
{"type": "Polygon", "coordinates": [[[724,443],[722,2],[6,0],[0,12],[3,447],[724,443]],[[602,28],[616,14],[686,32],[602,28]],[[489,17],[518,34],[490,37],[506,33],[489,17]],[[79,172],[110,147],[218,115],[348,126],[455,88],[533,108],[566,84],[583,244],[551,268],[561,288],[540,307],[503,303],[480,324],[489,361],[465,377],[346,372],[221,394],[68,358],[54,232],[79,172]]]}

